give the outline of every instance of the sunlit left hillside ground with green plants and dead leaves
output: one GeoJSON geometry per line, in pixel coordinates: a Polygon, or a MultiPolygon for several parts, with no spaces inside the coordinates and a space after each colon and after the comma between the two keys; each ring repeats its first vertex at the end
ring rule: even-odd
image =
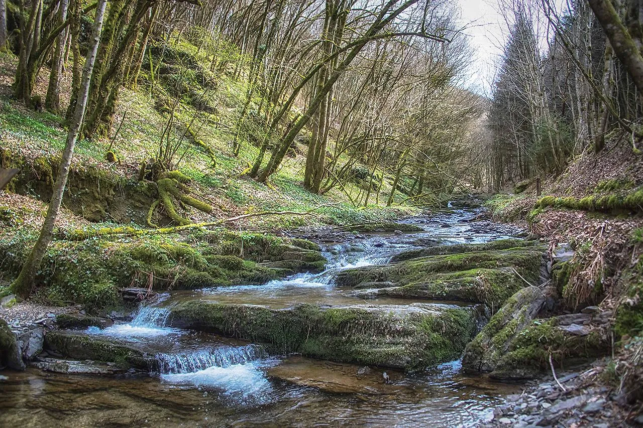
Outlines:
{"type": "MultiPolygon", "coordinates": [[[[174,57],[169,56],[172,58],[190,58],[196,64],[203,60],[198,56],[198,49],[185,40],[177,41],[168,49],[174,49],[174,57]]],[[[0,297],[8,293],[7,286],[17,275],[26,255],[24,249],[30,247],[37,236],[66,139],[62,116],[33,111],[12,100],[11,84],[16,65],[14,55],[0,53],[0,168],[21,168],[21,174],[4,192],[0,192],[0,297]]],[[[114,301],[113,281],[106,280],[101,285],[96,280],[96,272],[86,274],[76,268],[62,278],[60,270],[70,262],[87,260],[91,263],[87,272],[98,269],[104,272],[105,278],[113,276],[112,268],[105,265],[105,260],[113,259],[111,253],[119,247],[136,252],[132,257],[137,266],[140,263],[158,265],[156,254],[161,251],[171,253],[169,265],[174,263],[194,268],[194,262],[180,258],[185,245],[191,245],[194,250],[194,242],[197,242],[194,231],[164,233],[162,236],[147,233],[150,224],[176,226],[172,221],[172,210],[176,211],[175,217],[185,218],[187,222],[217,222],[264,211],[293,212],[289,215],[242,218],[214,227],[213,233],[219,237],[224,231],[234,231],[233,235],[226,235],[225,240],[218,241],[217,256],[239,255],[239,249],[230,248],[231,242],[239,244],[240,253],[243,253],[244,242],[250,245],[248,241],[272,240],[285,229],[385,222],[420,212],[419,208],[408,204],[386,206],[392,192],[392,177],[387,175],[377,188],[365,180],[338,186],[324,195],[307,192],[302,184],[305,147],[301,142],[296,144],[266,184],[247,177],[245,172],[259,150],[252,141],[257,141],[260,135],[256,134],[253,123],[237,127],[239,112],[248,92],[248,88],[240,83],[243,79],[235,78],[231,70],[217,75],[216,89],[208,99],[208,110],[199,111],[190,100],[183,99],[174,112],[174,122],[170,123],[162,94],[172,90],[169,83],[172,78],[186,78],[188,86],[199,89],[203,89],[203,82],[194,80],[189,70],[186,71],[185,64],[163,63],[163,67],[179,71],[177,75],[159,77],[156,86],[150,85],[149,76],[143,72],[141,82],[144,83],[138,89],[122,89],[113,134],[78,141],[56,231],[59,238],[72,235],[76,238],[56,240],[50,248],[46,260],[53,266],[58,263],[59,269],[54,267],[43,274],[41,282],[44,287],[38,287],[32,296],[36,301],[56,305],[82,303],[92,307],[104,303],[109,306],[114,301]],[[190,81],[190,76],[194,82],[190,81]],[[192,123],[191,127],[186,123],[192,123]],[[163,130],[167,126],[170,136],[164,139],[163,130]],[[235,140],[239,141],[237,155],[233,148],[235,140]],[[183,202],[166,206],[157,190],[157,183],[140,179],[141,163],[149,165],[168,141],[176,150],[170,159],[172,169],[180,173],[179,179],[185,181],[179,183],[181,190],[192,201],[200,202],[197,202],[199,206],[205,206],[204,209],[192,208],[183,202]],[[109,159],[111,155],[113,157],[109,159]],[[155,204],[158,208],[154,208],[155,204]],[[296,214],[311,210],[314,213],[310,215],[296,214]],[[123,227],[128,233],[94,236],[123,227]],[[102,260],[98,257],[100,266],[94,263],[96,254],[102,254],[102,260]],[[57,275],[60,278],[56,279],[57,275]]],[[[198,67],[203,68],[202,65],[198,67]]],[[[66,105],[69,100],[70,74],[66,73],[62,82],[61,105],[66,105]]],[[[36,82],[35,95],[42,99],[46,93],[44,76],[47,75],[48,71],[43,69],[36,82]]],[[[254,103],[251,105],[256,108],[254,103]]],[[[406,198],[403,193],[394,193],[395,202],[406,198]]],[[[212,251],[203,247],[195,257],[212,251]]],[[[163,257],[163,263],[168,262],[167,256],[163,257]]],[[[164,266],[167,274],[168,264],[164,266]]],[[[212,269],[220,273],[220,269],[212,269]]],[[[258,267],[252,269],[260,271],[258,267]]],[[[221,274],[221,280],[227,280],[226,274],[221,274]]],[[[137,281],[132,282],[132,285],[136,284],[137,281]]],[[[145,285],[145,280],[141,280],[140,285],[145,285]]]]}

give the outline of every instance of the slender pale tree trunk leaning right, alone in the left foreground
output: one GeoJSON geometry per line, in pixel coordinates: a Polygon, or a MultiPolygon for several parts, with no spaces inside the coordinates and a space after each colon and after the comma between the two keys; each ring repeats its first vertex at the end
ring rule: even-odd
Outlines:
{"type": "Polygon", "coordinates": [[[100,40],[100,31],[103,26],[103,17],[105,14],[105,4],[107,0],[98,0],[96,6],[96,17],[92,28],[91,46],[87,51],[87,58],[85,60],[85,67],[83,69],[82,82],[80,84],[80,93],[78,94],[76,109],[73,116],[73,121],[69,125],[69,132],[67,134],[67,143],[65,150],[62,153],[60,161],[60,169],[56,177],[56,183],[53,187],[53,194],[51,202],[47,210],[47,215],[42,223],[42,228],[38,240],[33,245],[32,251],[29,254],[23,269],[18,278],[12,284],[12,290],[21,296],[28,296],[33,289],[34,281],[44,253],[51,242],[53,235],[53,226],[56,222],[56,217],[62,204],[62,196],[65,192],[67,184],[67,177],[69,175],[69,166],[74,154],[74,146],[78,139],[80,127],[82,125],[85,111],[87,107],[87,94],[89,93],[89,82],[91,82],[92,71],[96,60],[96,50],[98,49],[98,42],[100,40]]]}

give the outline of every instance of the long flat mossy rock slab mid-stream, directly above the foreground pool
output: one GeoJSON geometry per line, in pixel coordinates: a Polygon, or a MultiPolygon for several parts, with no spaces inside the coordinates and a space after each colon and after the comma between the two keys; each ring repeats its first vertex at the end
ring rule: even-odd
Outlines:
{"type": "Polygon", "coordinates": [[[457,359],[475,334],[476,311],[422,303],[276,310],[194,300],[173,307],[168,323],[266,344],[276,353],[419,370],[457,359]]]}

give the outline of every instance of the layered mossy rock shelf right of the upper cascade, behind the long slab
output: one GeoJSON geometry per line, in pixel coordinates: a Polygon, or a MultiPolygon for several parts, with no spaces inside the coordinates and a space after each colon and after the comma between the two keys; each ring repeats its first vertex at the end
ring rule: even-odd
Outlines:
{"type": "Polygon", "coordinates": [[[390,265],[347,269],[338,274],[336,283],[352,289],[382,289],[376,294],[386,296],[480,302],[497,309],[527,283],[539,282],[543,260],[538,246],[493,251],[476,245],[453,247],[426,249],[437,255],[390,265]],[[467,249],[474,251],[464,252],[467,249]],[[390,287],[391,283],[396,286],[390,287]]]}

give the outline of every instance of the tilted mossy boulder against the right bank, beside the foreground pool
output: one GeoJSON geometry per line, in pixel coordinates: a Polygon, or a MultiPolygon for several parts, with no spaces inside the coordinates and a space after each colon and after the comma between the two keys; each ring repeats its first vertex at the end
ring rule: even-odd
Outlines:
{"type": "MultiPolygon", "coordinates": [[[[491,373],[497,379],[518,380],[549,370],[550,355],[557,366],[606,355],[610,349],[607,336],[588,326],[570,324],[574,316],[536,318],[551,292],[529,287],[514,294],[467,344],[462,368],[469,373],[491,373]]],[[[590,316],[579,314],[577,318],[590,316]]]]}

